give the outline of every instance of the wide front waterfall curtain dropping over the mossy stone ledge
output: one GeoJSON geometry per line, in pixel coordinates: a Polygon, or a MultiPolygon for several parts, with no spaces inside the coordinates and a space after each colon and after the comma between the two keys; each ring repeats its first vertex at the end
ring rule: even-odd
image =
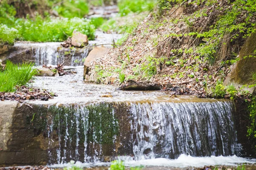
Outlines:
{"type": "Polygon", "coordinates": [[[49,164],[56,164],[239,155],[232,111],[224,100],[102,102],[52,105],[41,116],[47,119],[49,164]]]}

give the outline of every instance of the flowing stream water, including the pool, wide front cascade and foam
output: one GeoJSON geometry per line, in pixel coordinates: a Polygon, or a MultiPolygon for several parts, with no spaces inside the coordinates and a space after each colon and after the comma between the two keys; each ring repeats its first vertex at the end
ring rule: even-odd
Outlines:
{"type": "MultiPolygon", "coordinates": [[[[35,49],[38,65],[45,56],[51,64],[58,62],[49,57],[58,55],[52,48],[35,49]]],[[[92,167],[122,159],[127,166],[166,170],[256,162],[239,157],[242,147],[237,143],[233,103],[228,100],[119,91],[114,86],[83,83],[82,66],[66,68],[77,74],[37,77],[33,84],[57,97],[29,102],[44,108],[40,117],[46,121],[51,167],[68,166],[70,160],[92,167]]]]}

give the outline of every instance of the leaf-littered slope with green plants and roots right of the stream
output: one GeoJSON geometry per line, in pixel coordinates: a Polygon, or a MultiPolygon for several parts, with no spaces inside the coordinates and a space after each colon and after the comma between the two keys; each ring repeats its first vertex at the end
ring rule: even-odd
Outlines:
{"type": "MultiPolygon", "coordinates": [[[[255,31],[255,3],[166,0],[158,11],[106,55],[111,64],[98,60],[95,68],[105,68],[105,75],[122,72],[126,80],[157,82],[163,89],[181,86],[191,94],[214,95],[211,89],[222,83],[245,38],[255,31]]],[[[105,78],[99,75],[98,81],[105,78]]]]}

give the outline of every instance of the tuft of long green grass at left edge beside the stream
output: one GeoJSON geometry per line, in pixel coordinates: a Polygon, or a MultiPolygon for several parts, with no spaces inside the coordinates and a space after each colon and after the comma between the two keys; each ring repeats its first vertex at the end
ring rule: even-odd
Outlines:
{"type": "Polygon", "coordinates": [[[29,80],[37,74],[33,66],[32,62],[15,65],[7,61],[5,70],[0,72],[0,91],[14,92],[16,86],[28,85],[29,80]]]}

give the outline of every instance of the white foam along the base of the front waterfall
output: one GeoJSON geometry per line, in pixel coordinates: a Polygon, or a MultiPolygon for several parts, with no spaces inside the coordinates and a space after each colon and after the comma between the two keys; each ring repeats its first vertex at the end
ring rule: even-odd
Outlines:
{"type": "MultiPolygon", "coordinates": [[[[226,166],[236,166],[238,164],[256,164],[256,159],[246,159],[238,156],[210,156],[210,157],[192,157],[187,155],[180,155],[177,159],[165,159],[165,158],[156,158],[156,159],[142,159],[140,161],[134,161],[129,156],[121,156],[120,160],[125,162],[125,166],[134,167],[134,166],[161,166],[161,167],[204,167],[214,166],[214,165],[226,165],[226,166]]],[[[98,162],[93,163],[81,163],[77,161],[75,164],[77,167],[94,167],[94,166],[109,166],[110,163],[98,162]]],[[[54,164],[50,167],[70,167],[72,164],[54,164]]]]}

